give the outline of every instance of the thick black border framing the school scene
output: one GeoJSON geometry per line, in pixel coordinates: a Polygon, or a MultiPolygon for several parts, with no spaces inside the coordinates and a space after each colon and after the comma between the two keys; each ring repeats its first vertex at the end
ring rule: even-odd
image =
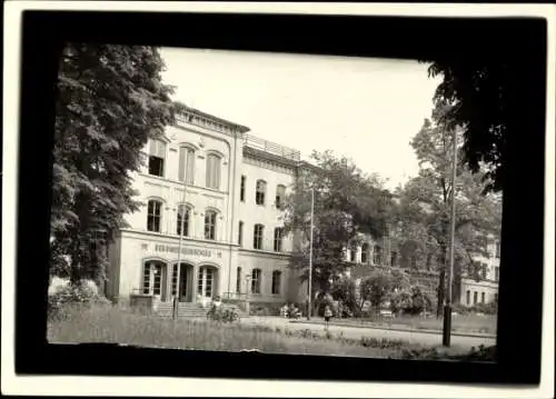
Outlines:
{"type": "Polygon", "coordinates": [[[546,40],[543,19],[27,11],[19,116],[17,373],[538,383],[546,40]],[[502,250],[505,271],[499,285],[498,362],[226,353],[108,343],[48,345],[51,149],[58,62],[66,42],[456,59],[461,63],[513,54],[510,62],[519,67],[520,76],[513,80],[515,91],[508,107],[515,109],[512,122],[523,128],[523,134],[507,141],[502,236],[508,245],[502,250]],[[519,323],[518,315],[527,315],[527,322],[519,323]],[[218,366],[200,368],[201,360],[218,366]],[[284,361],[277,360],[286,360],[287,366],[278,366],[284,361]]]}

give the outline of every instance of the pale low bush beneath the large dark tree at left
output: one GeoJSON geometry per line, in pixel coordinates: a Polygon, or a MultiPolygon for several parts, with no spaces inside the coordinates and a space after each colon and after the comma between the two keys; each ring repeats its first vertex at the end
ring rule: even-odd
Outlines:
{"type": "Polygon", "coordinates": [[[111,302],[98,293],[92,281],[82,281],[78,286],[63,285],[51,290],[48,296],[48,318],[63,319],[67,317],[67,307],[111,305],[111,302]]]}

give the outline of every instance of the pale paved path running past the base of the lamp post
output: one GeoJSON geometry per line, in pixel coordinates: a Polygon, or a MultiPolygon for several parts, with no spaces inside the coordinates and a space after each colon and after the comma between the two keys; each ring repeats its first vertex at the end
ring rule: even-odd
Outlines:
{"type": "MultiPolygon", "coordinates": [[[[290,322],[288,319],[279,317],[249,317],[241,319],[241,323],[252,323],[252,325],[265,325],[270,327],[288,328],[289,330],[305,330],[309,329],[311,331],[324,331],[322,325],[316,323],[305,323],[302,321],[290,322]]],[[[377,339],[400,339],[411,343],[421,343],[427,346],[437,346],[443,343],[443,336],[429,332],[417,332],[417,331],[395,331],[388,329],[378,328],[361,328],[361,327],[348,327],[348,326],[329,326],[329,331],[331,333],[338,335],[340,331],[346,338],[360,339],[361,337],[377,338],[377,339]]],[[[479,345],[492,346],[496,345],[495,338],[479,338],[479,337],[465,337],[465,336],[451,336],[451,345],[470,349],[471,347],[478,347],[479,345]]]]}

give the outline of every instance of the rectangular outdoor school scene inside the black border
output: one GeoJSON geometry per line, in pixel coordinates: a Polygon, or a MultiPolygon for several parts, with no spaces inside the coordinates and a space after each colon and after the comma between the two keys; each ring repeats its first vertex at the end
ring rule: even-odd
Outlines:
{"type": "Polygon", "coordinates": [[[444,68],[68,43],[48,341],[496,361],[499,166],[444,68]]]}

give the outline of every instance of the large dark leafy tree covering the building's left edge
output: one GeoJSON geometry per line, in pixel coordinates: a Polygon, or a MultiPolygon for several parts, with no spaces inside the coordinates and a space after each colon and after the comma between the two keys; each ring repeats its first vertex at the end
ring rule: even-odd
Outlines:
{"type": "Polygon", "coordinates": [[[105,279],[107,246],[138,209],[130,173],[181,104],[156,48],[69,43],[60,58],[52,173],[53,271],[105,279]],[[60,258],[64,255],[63,259],[60,258]]]}

